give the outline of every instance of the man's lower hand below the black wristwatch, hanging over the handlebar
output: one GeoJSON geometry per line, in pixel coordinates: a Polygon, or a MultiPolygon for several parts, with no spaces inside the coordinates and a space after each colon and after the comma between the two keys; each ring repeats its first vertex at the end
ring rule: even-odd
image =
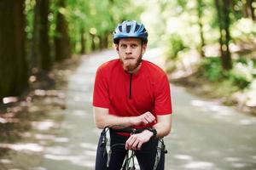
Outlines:
{"type": "Polygon", "coordinates": [[[126,140],[125,150],[141,150],[142,145],[153,136],[153,133],[144,130],[142,133],[132,134],[129,139],[126,140]]]}

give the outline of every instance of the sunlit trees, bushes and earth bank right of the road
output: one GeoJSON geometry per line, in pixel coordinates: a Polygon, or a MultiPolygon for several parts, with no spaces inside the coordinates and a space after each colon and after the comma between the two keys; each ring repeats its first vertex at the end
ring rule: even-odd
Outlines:
{"type": "MultiPolygon", "coordinates": [[[[158,1],[152,39],[171,82],[256,115],[256,3],[158,1]]],[[[145,16],[147,18],[147,16],[145,16]]],[[[149,17],[148,17],[149,18],[149,17]]]]}

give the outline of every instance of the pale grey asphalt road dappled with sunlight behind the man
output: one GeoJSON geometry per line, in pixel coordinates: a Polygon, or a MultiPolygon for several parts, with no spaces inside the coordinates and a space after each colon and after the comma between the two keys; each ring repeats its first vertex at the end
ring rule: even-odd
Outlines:
{"type": "MultiPolygon", "coordinates": [[[[151,52],[148,56],[157,54],[151,52]]],[[[68,78],[67,109],[60,132],[46,145],[42,161],[33,170],[94,169],[100,131],[93,122],[92,87],[97,66],[114,56],[109,50],[81,59],[68,78]]],[[[172,105],[172,133],[165,139],[166,170],[256,170],[256,117],[173,85],[172,105]]]]}

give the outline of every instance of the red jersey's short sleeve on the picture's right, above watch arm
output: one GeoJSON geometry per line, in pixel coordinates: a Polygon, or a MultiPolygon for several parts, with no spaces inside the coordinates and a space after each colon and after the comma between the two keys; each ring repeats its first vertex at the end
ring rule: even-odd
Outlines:
{"type": "Polygon", "coordinates": [[[159,78],[154,88],[154,113],[156,115],[172,114],[170,83],[166,75],[159,78]]]}

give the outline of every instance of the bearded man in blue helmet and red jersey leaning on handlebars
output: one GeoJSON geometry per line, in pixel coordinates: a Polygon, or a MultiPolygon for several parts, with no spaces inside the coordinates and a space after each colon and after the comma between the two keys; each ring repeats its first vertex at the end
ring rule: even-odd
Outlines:
{"type": "MultiPolygon", "coordinates": [[[[96,71],[93,111],[96,127],[143,128],[142,133],[116,133],[110,130],[111,145],[124,143],[106,154],[101,134],[96,153],[96,170],[119,170],[127,150],[135,150],[141,170],[153,170],[159,138],[172,126],[172,103],[166,73],[142,59],[148,43],[143,24],[125,20],[113,31],[113,43],[119,59],[102,64],[96,71]]],[[[157,170],[164,169],[161,152],[157,170]]]]}

